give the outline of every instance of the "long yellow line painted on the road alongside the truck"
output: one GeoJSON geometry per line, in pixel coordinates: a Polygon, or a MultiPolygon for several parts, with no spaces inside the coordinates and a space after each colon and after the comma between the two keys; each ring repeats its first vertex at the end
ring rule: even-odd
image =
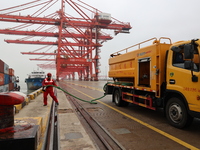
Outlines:
{"type": "MultiPolygon", "coordinates": [[[[83,92],[81,92],[81,91],[79,91],[79,90],[77,90],[75,88],[72,88],[72,89],[78,91],[79,93],[81,93],[81,94],[83,94],[83,95],[85,95],[87,97],[90,97],[91,99],[94,99],[94,97],[89,96],[89,95],[87,95],[87,94],[85,94],[85,93],[83,93],[83,92]]],[[[155,132],[157,132],[157,133],[159,133],[159,134],[161,134],[161,135],[163,135],[163,136],[175,141],[176,143],[179,143],[180,145],[182,145],[184,147],[187,147],[187,148],[189,148],[191,150],[200,150],[199,148],[196,148],[196,147],[194,147],[194,146],[192,146],[192,145],[190,145],[190,144],[188,144],[188,143],[186,143],[186,142],[184,142],[184,141],[182,141],[182,140],[180,140],[180,139],[178,139],[178,138],[176,138],[176,137],[174,137],[174,136],[172,136],[172,135],[170,135],[170,134],[168,134],[168,133],[166,133],[166,132],[164,132],[164,131],[162,131],[160,129],[157,129],[157,128],[153,127],[152,125],[148,124],[148,123],[145,123],[145,122],[143,122],[143,121],[141,121],[141,120],[139,120],[137,118],[134,118],[134,117],[132,117],[132,116],[130,116],[130,115],[128,115],[128,114],[126,114],[126,113],[114,108],[114,107],[109,106],[108,104],[106,104],[104,102],[101,102],[99,100],[97,100],[97,101],[99,103],[109,107],[110,109],[112,109],[112,110],[114,110],[114,111],[116,111],[116,112],[118,112],[118,113],[120,113],[120,114],[122,114],[122,115],[124,115],[124,116],[126,116],[126,117],[128,117],[128,118],[130,118],[130,119],[132,119],[132,120],[134,120],[134,121],[136,121],[138,123],[140,123],[140,124],[142,124],[143,126],[145,126],[145,127],[149,128],[149,129],[151,129],[151,130],[153,130],[153,131],[155,131],[155,132]]]]}

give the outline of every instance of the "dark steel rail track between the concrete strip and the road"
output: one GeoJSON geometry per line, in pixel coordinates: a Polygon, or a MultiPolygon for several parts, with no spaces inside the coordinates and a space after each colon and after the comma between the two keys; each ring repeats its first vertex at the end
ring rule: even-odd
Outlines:
{"type": "MultiPolygon", "coordinates": [[[[84,118],[87,126],[91,128],[89,135],[95,139],[96,145],[101,150],[125,150],[125,148],[118,143],[92,116],[81,106],[75,98],[67,95],[69,102],[75,107],[77,114],[81,115],[80,118],[84,118]],[[95,136],[95,137],[94,137],[95,136]],[[99,143],[100,142],[100,143],[99,143]]],[[[83,121],[83,119],[81,120],[83,121]]],[[[84,124],[85,125],[85,124],[84,124]]],[[[88,130],[88,128],[86,128],[88,130]]]]}

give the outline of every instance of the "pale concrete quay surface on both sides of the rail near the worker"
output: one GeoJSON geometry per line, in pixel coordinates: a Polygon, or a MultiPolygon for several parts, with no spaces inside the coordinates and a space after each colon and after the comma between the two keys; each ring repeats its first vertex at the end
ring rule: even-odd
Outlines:
{"type": "MultiPolygon", "coordinates": [[[[79,121],[75,111],[65,94],[57,90],[58,107],[58,124],[59,124],[59,149],[60,150],[96,150],[93,140],[86,133],[86,130],[79,121]]],[[[50,114],[52,98],[48,95],[48,105],[43,106],[43,93],[38,94],[30,100],[29,104],[24,106],[19,113],[15,114],[15,120],[36,118],[41,121],[38,131],[37,150],[42,150],[47,121],[50,114]]]]}

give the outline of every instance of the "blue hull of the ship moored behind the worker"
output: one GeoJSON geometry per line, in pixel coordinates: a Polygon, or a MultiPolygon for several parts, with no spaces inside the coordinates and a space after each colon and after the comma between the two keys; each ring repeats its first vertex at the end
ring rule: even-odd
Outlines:
{"type": "Polygon", "coordinates": [[[42,87],[42,81],[45,78],[27,78],[25,82],[28,90],[37,90],[42,87]]]}

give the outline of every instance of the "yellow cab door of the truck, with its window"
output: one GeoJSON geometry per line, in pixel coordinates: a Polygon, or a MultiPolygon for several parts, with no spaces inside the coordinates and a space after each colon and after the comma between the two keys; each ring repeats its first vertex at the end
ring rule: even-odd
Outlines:
{"type": "Polygon", "coordinates": [[[199,89],[197,88],[198,84],[191,80],[192,74],[199,76],[199,54],[194,54],[194,57],[196,60],[193,60],[193,67],[188,69],[185,68],[185,61],[187,60],[184,58],[184,49],[179,52],[171,51],[172,59],[171,62],[168,62],[167,67],[168,89],[177,90],[181,93],[190,88],[199,89]]]}

